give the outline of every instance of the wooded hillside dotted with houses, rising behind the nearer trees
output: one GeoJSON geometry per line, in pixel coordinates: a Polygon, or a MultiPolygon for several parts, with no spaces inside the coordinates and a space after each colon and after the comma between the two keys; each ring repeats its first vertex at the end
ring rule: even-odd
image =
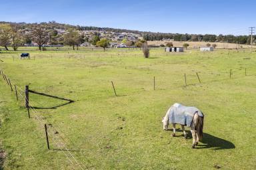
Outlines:
{"type": "MultiPolygon", "coordinates": [[[[151,33],[146,31],[135,31],[128,29],[113,29],[108,27],[85,27],[80,25],[67,25],[62,23],[56,23],[55,21],[50,21],[48,23],[11,23],[3,22],[19,28],[22,31],[29,31],[37,25],[43,26],[47,31],[51,32],[57,30],[58,33],[65,33],[68,29],[77,29],[81,33],[89,33],[87,36],[90,39],[91,36],[98,34],[103,38],[115,39],[118,40],[119,36],[128,38],[129,36],[133,37],[131,41],[137,41],[140,37],[146,41],[204,41],[204,42],[231,42],[239,44],[250,44],[250,37],[248,35],[235,36],[235,35],[196,35],[196,34],[180,34],[180,33],[151,33]],[[128,37],[127,37],[128,35],[128,37]]],[[[121,38],[122,39],[122,38],[121,38]]],[[[119,40],[121,40],[119,39],[119,40]]],[[[253,36],[253,42],[255,42],[256,36],[253,36]]]]}

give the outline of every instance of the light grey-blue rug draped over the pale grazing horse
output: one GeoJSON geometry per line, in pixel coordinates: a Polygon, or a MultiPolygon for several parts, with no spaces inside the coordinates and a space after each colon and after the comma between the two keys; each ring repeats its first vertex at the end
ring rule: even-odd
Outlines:
{"type": "Polygon", "coordinates": [[[203,113],[195,107],[173,104],[169,109],[169,124],[181,124],[190,127],[195,113],[203,117],[203,113]]]}

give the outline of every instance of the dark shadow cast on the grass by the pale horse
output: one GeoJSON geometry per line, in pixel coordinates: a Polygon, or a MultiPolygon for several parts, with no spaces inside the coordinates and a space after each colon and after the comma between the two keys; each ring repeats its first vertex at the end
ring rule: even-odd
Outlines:
{"type": "MultiPolygon", "coordinates": [[[[181,129],[176,129],[176,131],[181,131],[181,129]]],[[[192,139],[191,131],[187,132],[187,139],[192,139]]],[[[179,137],[179,135],[177,135],[179,137]]],[[[199,142],[199,145],[195,147],[195,149],[208,149],[212,148],[214,150],[221,149],[235,149],[234,143],[231,141],[227,141],[225,139],[221,139],[214,135],[210,135],[209,133],[203,133],[203,139],[199,142]]]]}

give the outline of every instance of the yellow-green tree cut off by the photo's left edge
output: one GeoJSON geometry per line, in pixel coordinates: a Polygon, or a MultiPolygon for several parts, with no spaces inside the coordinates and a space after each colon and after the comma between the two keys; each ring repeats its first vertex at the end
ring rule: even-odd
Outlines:
{"type": "Polygon", "coordinates": [[[8,49],[8,45],[11,40],[11,26],[9,24],[0,25],[0,45],[5,47],[5,50],[8,49]]]}

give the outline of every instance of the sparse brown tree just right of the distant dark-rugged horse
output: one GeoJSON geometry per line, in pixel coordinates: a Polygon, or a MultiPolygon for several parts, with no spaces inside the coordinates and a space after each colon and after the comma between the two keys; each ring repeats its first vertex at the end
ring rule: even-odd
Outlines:
{"type": "Polygon", "coordinates": [[[49,41],[48,33],[41,25],[37,25],[33,29],[31,35],[32,41],[38,44],[39,50],[41,50],[43,44],[46,44],[49,41]]]}

